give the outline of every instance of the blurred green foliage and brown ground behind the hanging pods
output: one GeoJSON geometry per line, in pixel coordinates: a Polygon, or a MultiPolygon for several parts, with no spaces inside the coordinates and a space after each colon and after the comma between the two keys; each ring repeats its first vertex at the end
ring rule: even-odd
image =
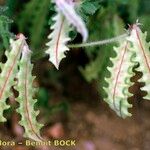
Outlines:
{"type": "MultiPolygon", "coordinates": [[[[89,29],[89,41],[120,35],[139,19],[150,41],[150,0],[78,0],[84,5],[78,10],[89,29]]],[[[41,134],[47,139],[75,139],[75,147],[0,147],[0,150],[149,150],[150,149],[150,102],[142,99],[143,83],[137,80],[142,73],[136,72],[130,88],[134,96],[133,116],[121,119],[103,102],[106,67],[114,56],[109,44],[86,49],[71,49],[56,70],[44,55],[45,43],[50,33],[54,6],[50,0],[0,0],[0,59],[9,47],[8,39],[24,33],[33,55],[34,85],[40,109],[38,121],[45,126],[41,134]]],[[[82,38],[72,31],[72,43],[82,38]]],[[[109,91],[108,91],[109,92],[109,91]]],[[[8,103],[13,107],[5,112],[6,123],[0,123],[0,139],[23,141],[23,128],[18,125],[20,116],[15,112],[18,104],[14,98],[8,103]]]]}

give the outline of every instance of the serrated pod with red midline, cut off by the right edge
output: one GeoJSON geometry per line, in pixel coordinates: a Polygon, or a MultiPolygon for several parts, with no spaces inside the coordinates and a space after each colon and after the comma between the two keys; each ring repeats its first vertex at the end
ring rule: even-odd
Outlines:
{"type": "Polygon", "coordinates": [[[142,33],[139,26],[134,24],[128,40],[132,42],[132,51],[136,52],[135,61],[140,64],[136,70],[143,72],[143,76],[139,81],[144,82],[145,86],[141,90],[147,92],[144,98],[150,100],[150,43],[146,41],[146,37],[147,33],[142,33]]]}

